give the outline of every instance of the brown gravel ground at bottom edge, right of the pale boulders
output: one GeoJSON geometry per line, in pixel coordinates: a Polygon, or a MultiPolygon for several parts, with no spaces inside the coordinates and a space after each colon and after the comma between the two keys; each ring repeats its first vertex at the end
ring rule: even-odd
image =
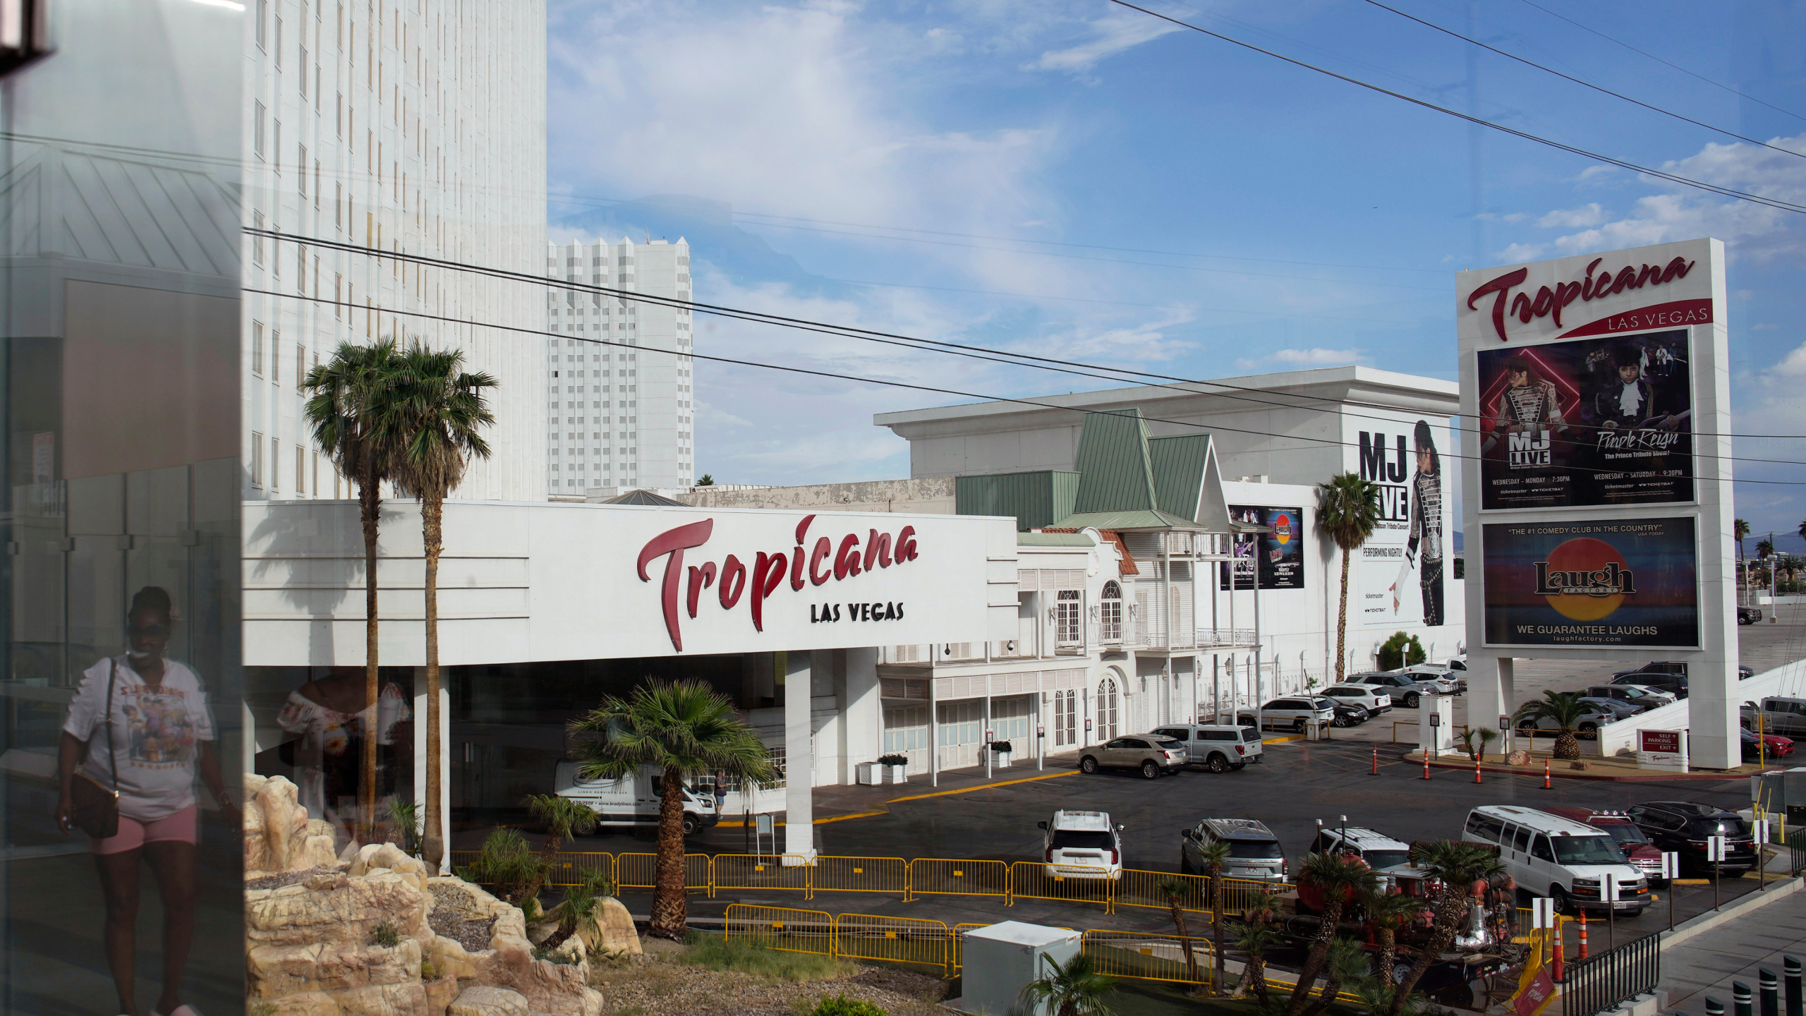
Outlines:
{"type": "Polygon", "coordinates": [[[946,994],[941,978],[889,967],[851,967],[847,976],[807,983],[768,980],[683,964],[683,945],[643,940],[647,956],[591,974],[605,1016],[798,1016],[824,996],[870,1002],[889,1016],[936,1016],[946,994]]]}

